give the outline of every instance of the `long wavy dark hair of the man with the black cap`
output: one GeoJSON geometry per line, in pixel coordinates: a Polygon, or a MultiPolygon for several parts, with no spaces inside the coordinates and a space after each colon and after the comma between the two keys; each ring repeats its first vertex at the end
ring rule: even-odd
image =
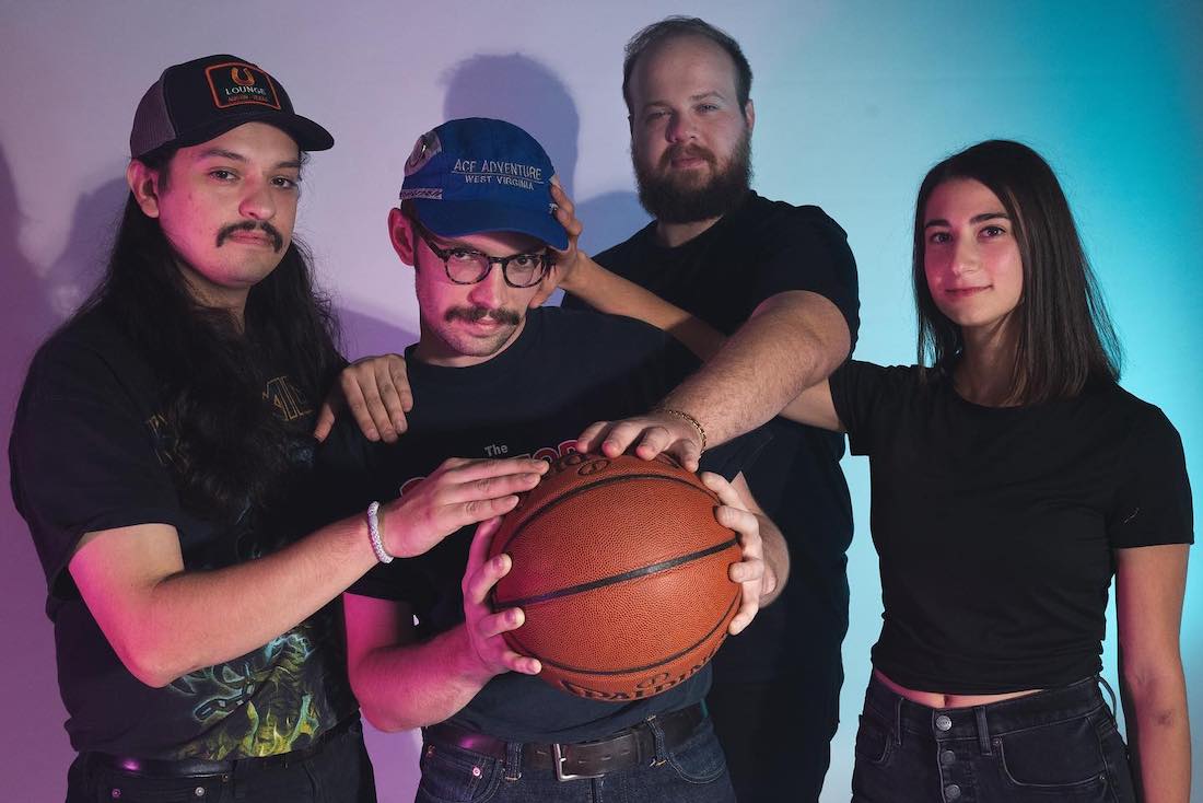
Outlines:
{"type": "MultiPolygon", "coordinates": [[[[143,157],[165,189],[173,150],[143,157]]],[[[338,329],[312,258],[292,240],[232,315],[198,305],[159,222],[126,200],[105,277],[76,315],[107,314],[149,364],[177,438],[172,467],[185,506],[232,521],[267,501],[291,465],[297,432],[265,401],[265,371],[286,372],[310,405],[342,366],[338,329]]],[[[295,426],[295,425],[294,425],[295,426]]]]}

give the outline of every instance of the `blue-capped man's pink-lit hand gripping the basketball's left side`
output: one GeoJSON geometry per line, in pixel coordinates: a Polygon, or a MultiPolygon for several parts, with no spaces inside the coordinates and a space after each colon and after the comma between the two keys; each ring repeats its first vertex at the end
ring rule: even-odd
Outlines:
{"type": "Polygon", "coordinates": [[[502,520],[493,518],[476,527],[476,535],[468,549],[468,568],[463,574],[463,620],[472,646],[472,657],[484,672],[482,681],[503,672],[539,674],[543,666],[538,659],[518,655],[505,643],[504,636],[522,626],[526,618],[521,608],[506,608],[493,613],[488,604],[488,592],[510,571],[510,556],[502,554],[488,557],[488,543],[502,520]]]}

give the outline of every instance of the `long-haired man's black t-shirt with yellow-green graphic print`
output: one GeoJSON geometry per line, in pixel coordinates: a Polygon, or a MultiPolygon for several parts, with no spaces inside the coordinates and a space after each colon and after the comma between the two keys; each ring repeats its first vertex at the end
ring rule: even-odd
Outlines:
{"type": "MultiPolygon", "coordinates": [[[[284,372],[265,403],[295,425],[295,467],[280,478],[288,503],[220,526],[185,509],[172,479],[179,460],[158,385],[103,311],[54,335],[29,370],[10,442],[12,491],[46,572],[59,687],[76,750],[144,758],[238,758],[284,752],[355,710],[331,603],[271,643],[164,689],[120,662],[79,596],[67,563],[85,532],[167,524],[186,571],[257,557],[313,526],[313,408],[284,372]]],[[[214,610],[213,616],[225,615],[214,610]]]]}

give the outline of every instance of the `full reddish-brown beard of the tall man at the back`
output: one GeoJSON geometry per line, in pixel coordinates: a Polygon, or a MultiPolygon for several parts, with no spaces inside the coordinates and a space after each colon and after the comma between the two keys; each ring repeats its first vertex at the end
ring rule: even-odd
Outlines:
{"type": "Polygon", "coordinates": [[[730,159],[719,166],[718,158],[700,146],[674,144],[654,167],[638,157],[635,179],[639,202],[662,223],[697,223],[730,212],[752,185],[752,131],[745,130],[730,159]],[[672,171],[672,159],[695,157],[710,165],[710,178],[699,181],[692,171],[672,171]]]}

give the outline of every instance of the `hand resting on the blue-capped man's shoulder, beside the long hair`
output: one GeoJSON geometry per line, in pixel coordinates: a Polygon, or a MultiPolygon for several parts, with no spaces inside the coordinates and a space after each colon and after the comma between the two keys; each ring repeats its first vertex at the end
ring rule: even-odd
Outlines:
{"type": "Polygon", "coordinates": [[[318,412],[313,436],[325,441],[344,408],[351,412],[368,441],[396,442],[409,426],[405,413],[414,408],[405,359],[399,354],[366,356],[343,368],[338,384],[318,412]]]}

